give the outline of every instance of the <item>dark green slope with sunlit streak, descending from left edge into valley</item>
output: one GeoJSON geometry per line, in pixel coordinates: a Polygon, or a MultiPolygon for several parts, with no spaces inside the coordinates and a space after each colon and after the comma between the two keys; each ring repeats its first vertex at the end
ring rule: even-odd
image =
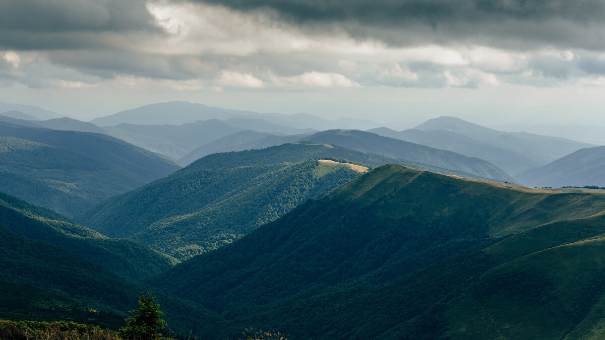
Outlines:
{"type": "Polygon", "coordinates": [[[31,240],[70,250],[131,280],[168,270],[177,261],[131,240],[105,237],[44,208],[0,192],[0,225],[31,240]]]}

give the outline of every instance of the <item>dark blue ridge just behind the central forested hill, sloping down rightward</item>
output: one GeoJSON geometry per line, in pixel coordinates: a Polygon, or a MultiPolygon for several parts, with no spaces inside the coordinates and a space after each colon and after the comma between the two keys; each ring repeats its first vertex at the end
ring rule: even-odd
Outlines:
{"type": "Polygon", "coordinates": [[[468,172],[481,178],[498,181],[515,181],[491,163],[468,157],[456,152],[430,148],[416,143],[405,142],[371,132],[359,130],[329,130],[305,137],[305,140],[329,145],[338,145],[344,148],[364,152],[374,152],[397,159],[407,159],[411,162],[438,166],[439,168],[453,169],[468,172]]]}

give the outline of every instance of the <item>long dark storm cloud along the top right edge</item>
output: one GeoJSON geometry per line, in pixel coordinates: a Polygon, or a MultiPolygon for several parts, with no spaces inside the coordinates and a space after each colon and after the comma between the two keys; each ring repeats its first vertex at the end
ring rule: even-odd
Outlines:
{"type": "Polygon", "coordinates": [[[194,0],[269,11],[312,29],[345,28],[393,45],[465,42],[508,48],[535,44],[605,48],[602,0],[194,0]]]}

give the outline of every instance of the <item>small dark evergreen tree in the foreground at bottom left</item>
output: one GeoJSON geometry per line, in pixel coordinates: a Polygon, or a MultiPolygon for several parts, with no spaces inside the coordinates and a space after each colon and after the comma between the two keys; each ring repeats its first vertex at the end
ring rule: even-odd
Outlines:
{"type": "Polygon", "coordinates": [[[123,338],[131,340],[157,339],[157,331],[168,327],[162,319],[164,313],[160,311],[160,304],[155,302],[149,290],[139,296],[139,308],[128,313],[138,313],[126,318],[126,327],[120,329],[123,338]]]}

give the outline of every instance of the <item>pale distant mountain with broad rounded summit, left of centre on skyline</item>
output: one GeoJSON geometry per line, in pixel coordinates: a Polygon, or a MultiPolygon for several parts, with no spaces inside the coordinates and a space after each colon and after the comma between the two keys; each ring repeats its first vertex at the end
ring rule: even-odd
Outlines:
{"type": "Polygon", "coordinates": [[[110,116],[91,120],[99,126],[115,126],[122,123],[135,125],[180,125],[197,122],[198,120],[225,120],[236,114],[221,108],[190,102],[167,102],[141,106],[136,109],[120,111],[110,116]]]}

